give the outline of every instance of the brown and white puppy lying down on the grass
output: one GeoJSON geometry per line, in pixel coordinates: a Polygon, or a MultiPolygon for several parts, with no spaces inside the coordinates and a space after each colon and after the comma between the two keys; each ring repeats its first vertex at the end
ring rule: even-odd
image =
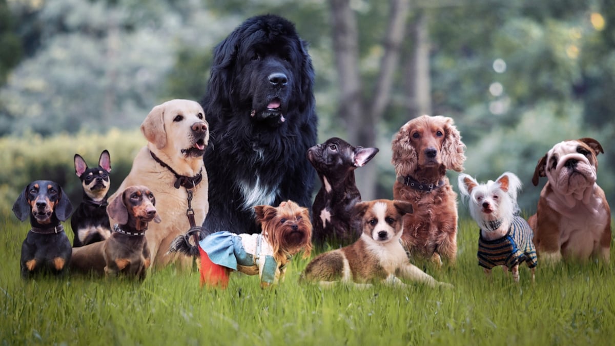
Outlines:
{"type": "Polygon", "coordinates": [[[429,286],[443,284],[410,264],[400,243],[403,215],[412,211],[411,203],[388,199],[355,204],[354,212],[361,220],[363,230],[359,240],[315,257],[301,274],[301,280],[318,282],[323,286],[341,281],[357,287],[377,282],[403,286],[399,278],[429,286]]]}

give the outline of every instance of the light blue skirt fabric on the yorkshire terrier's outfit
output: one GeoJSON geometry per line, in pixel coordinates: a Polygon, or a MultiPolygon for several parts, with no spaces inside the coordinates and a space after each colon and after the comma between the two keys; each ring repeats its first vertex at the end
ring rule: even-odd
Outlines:
{"type": "Polygon", "coordinates": [[[237,270],[237,264],[251,267],[256,265],[254,256],[245,252],[241,237],[229,231],[212,233],[199,241],[199,246],[217,265],[237,270]]]}

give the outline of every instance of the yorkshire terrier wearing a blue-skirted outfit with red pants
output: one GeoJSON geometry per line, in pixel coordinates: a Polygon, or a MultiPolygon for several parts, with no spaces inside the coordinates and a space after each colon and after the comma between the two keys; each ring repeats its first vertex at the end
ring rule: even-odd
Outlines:
{"type": "Polygon", "coordinates": [[[284,273],[293,255],[312,251],[312,223],[309,211],[293,201],[278,207],[255,206],[256,222],[261,234],[235,234],[218,231],[189,243],[190,235],[175,238],[169,252],[200,257],[200,286],[226,288],[231,272],[257,275],[261,288],[284,280],[284,273]]]}

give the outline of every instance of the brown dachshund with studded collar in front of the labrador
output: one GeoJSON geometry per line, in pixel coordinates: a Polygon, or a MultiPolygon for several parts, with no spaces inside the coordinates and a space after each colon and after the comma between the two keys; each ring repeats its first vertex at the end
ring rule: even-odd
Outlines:
{"type": "Polygon", "coordinates": [[[105,241],[73,248],[71,270],[77,272],[118,273],[143,280],[151,264],[145,231],[148,222],[160,223],[154,194],[145,186],[127,187],[107,207],[109,217],[117,220],[105,241]]]}

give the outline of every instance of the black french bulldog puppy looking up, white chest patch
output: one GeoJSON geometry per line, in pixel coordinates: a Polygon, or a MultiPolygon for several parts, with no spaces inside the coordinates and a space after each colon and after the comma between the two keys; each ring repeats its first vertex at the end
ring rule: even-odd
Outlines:
{"type": "Polygon", "coordinates": [[[378,148],[352,147],[336,137],[309,148],[308,159],[321,183],[312,204],[314,244],[322,246],[328,241],[347,245],[359,239],[360,225],[351,224],[352,207],[361,201],[354,170],[368,163],[376,153],[378,148]]]}

